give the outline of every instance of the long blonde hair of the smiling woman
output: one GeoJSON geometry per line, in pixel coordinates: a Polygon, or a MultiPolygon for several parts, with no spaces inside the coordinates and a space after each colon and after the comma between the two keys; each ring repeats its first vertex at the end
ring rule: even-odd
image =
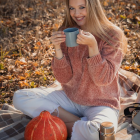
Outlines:
{"type": "MultiPolygon", "coordinates": [[[[118,45],[118,43],[121,44],[120,48],[125,54],[127,49],[127,39],[123,31],[107,19],[103,11],[103,7],[101,6],[100,0],[85,1],[87,10],[87,17],[85,23],[87,27],[86,30],[90,31],[100,39],[106,41],[114,48],[118,45]],[[113,38],[111,36],[113,36],[113,38]]],[[[65,0],[65,3],[66,15],[61,27],[68,28],[77,26],[76,22],[70,16],[69,0],[65,0]]]]}

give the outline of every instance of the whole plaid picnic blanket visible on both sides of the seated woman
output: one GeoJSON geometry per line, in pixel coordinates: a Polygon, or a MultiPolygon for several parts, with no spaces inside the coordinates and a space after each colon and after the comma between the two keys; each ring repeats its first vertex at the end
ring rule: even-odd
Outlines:
{"type": "MultiPolygon", "coordinates": [[[[123,114],[124,108],[130,103],[135,102],[137,98],[136,90],[133,88],[134,83],[123,75],[120,75],[119,83],[122,90],[122,109],[118,121],[119,125],[116,140],[140,140],[140,132],[132,126],[132,120],[124,117],[123,114]]],[[[54,89],[61,88],[57,81],[49,87],[53,87],[54,89]]],[[[30,120],[30,117],[15,109],[13,106],[4,104],[0,110],[0,140],[24,140],[24,130],[30,120]]]]}

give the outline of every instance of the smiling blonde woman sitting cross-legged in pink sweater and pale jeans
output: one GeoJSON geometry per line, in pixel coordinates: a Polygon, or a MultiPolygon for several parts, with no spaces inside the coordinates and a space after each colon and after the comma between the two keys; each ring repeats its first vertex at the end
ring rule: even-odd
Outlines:
{"type": "Polygon", "coordinates": [[[66,0],[64,22],[51,41],[55,47],[52,68],[63,90],[18,90],[14,106],[31,117],[43,110],[57,115],[71,140],[99,140],[102,122],[112,122],[116,131],[118,70],[127,46],[123,31],[106,18],[99,0],[66,0]],[[80,30],[76,47],[65,44],[63,29],[68,27],[80,30]]]}

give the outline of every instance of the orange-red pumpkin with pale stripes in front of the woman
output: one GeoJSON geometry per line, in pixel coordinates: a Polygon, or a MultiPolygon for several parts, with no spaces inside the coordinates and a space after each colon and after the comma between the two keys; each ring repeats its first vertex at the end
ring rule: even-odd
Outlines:
{"type": "Polygon", "coordinates": [[[26,126],[25,140],[66,140],[67,128],[58,117],[52,116],[48,111],[42,111],[26,126]]]}

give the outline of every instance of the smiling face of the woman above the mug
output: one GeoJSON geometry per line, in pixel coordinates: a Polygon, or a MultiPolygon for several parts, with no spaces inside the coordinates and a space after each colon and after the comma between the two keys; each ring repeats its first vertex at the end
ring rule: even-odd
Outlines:
{"type": "Polygon", "coordinates": [[[70,16],[81,29],[85,29],[86,23],[86,0],[69,0],[70,16]]]}

